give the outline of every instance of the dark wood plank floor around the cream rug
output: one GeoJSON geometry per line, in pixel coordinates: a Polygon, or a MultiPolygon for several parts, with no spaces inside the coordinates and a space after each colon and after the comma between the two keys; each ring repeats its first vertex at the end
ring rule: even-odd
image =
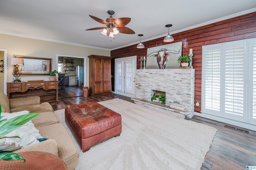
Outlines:
{"type": "MultiPolygon", "coordinates": [[[[63,92],[63,99],[60,99],[58,102],[51,102],[50,104],[54,110],[60,110],[65,109],[68,105],[76,105],[89,101],[106,101],[115,98],[133,103],[129,97],[116,94],[84,98],[82,97],[81,89],[79,90],[77,87],[74,89],[69,88],[69,92],[63,92]],[[66,94],[66,98],[64,94],[66,94]],[[68,94],[79,97],[70,97],[68,94]]],[[[209,125],[218,130],[209,152],[206,153],[201,170],[246,170],[246,166],[256,166],[255,131],[246,129],[249,131],[247,134],[226,128],[224,127],[226,125],[224,123],[198,116],[194,116],[189,120],[209,125]]]]}

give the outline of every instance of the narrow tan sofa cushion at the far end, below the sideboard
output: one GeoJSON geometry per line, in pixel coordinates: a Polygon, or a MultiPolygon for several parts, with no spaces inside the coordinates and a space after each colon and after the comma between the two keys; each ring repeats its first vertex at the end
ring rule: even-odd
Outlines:
{"type": "Polygon", "coordinates": [[[51,112],[51,111],[53,112],[53,109],[50,103],[45,102],[45,103],[41,103],[40,105],[24,106],[24,107],[11,109],[10,113],[19,112],[19,111],[30,111],[31,113],[34,113],[34,112],[43,113],[43,112],[51,112]]]}

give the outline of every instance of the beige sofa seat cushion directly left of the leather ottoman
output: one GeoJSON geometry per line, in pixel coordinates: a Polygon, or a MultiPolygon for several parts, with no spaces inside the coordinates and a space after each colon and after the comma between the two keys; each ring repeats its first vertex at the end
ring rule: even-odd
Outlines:
{"type": "Polygon", "coordinates": [[[54,123],[59,123],[57,117],[54,115],[53,112],[44,112],[32,119],[35,127],[44,127],[47,125],[52,125],[54,123]]]}

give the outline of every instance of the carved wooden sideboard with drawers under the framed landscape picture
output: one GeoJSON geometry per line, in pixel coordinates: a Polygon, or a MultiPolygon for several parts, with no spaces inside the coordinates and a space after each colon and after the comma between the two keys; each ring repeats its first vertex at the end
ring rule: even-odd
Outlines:
{"type": "Polygon", "coordinates": [[[39,96],[40,102],[58,101],[58,81],[23,81],[7,83],[9,99],[39,96]]]}

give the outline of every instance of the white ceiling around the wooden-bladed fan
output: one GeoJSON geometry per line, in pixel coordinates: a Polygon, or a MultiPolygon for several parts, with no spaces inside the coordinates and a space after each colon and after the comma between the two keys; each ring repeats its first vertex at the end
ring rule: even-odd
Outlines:
{"type": "MultiPolygon", "coordinates": [[[[256,0],[0,0],[0,34],[113,50],[256,11],[256,0]],[[136,34],[108,38],[102,20],[129,17],[136,34]]],[[[175,37],[174,37],[175,39],[175,37]]]]}

